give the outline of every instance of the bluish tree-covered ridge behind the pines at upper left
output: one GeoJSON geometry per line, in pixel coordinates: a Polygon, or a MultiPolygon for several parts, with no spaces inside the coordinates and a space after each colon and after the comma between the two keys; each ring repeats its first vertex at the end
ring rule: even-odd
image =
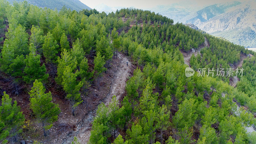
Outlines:
{"type": "MultiPolygon", "coordinates": [[[[13,3],[14,1],[17,2],[23,2],[24,0],[7,0],[10,3],[13,3]]],[[[28,1],[29,4],[33,4],[39,7],[47,7],[50,9],[55,9],[60,10],[63,5],[65,5],[67,8],[70,8],[71,10],[76,10],[80,11],[82,9],[88,9],[91,10],[91,8],[79,0],[26,0],[28,1]]]]}

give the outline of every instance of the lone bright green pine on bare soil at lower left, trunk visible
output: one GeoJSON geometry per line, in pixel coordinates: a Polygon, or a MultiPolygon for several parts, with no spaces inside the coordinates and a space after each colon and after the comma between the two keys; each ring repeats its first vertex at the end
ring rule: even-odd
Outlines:
{"type": "Polygon", "coordinates": [[[58,120],[60,114],[59,104],[52,103],[52,93],[45,93],[45,88],[41,82],[35,80],[33,87],[29,92],[30,108],[36,115],[36,118],[42,123],[44,136],[46,131],[52,127],[52,123],[58,120]]]}

